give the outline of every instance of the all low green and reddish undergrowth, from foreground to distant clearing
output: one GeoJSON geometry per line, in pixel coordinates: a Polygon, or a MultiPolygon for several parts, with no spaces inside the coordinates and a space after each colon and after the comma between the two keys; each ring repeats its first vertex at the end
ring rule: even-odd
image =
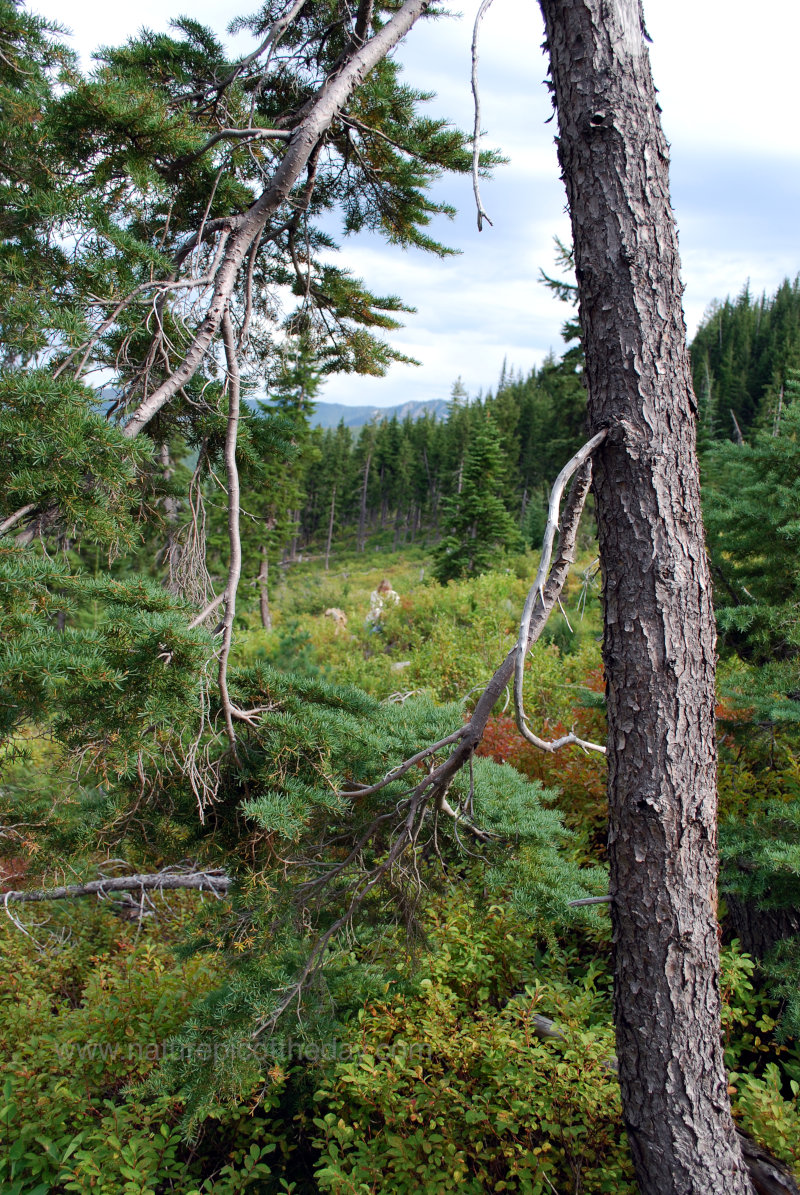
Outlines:
{"type": "MultiPolygon", "coordinates": [[[[529,560],[526,576],[530,566],[529,560]]],[[[520,566],[442,588],[429,584],[425,570],[422,558],[387,554],[354,558],[338,576],[300,566],[279,589],[276,630],[246,630],[238,663],[289,666],[310,682],[358,684],[373,699],[422,690],[435,701],[463,698],[466,710],[514,642],[527,581],[520,566]],[[366,625],[370,593],[384,576],[401,601],[373,631],[366,625]],[[324,615],[331,606],[348,615],[344,633],[324,615]]],[[[574,727],[601,741],[599,612],[590,589],[581,619],[585,588],[576,574],[566,615],[532,652],[526,703],[544,735],[574,727]]],[[[409,716],[413,705],[405,706],[409,716]]],[[[728,707],[720,713],[725,817],[740,826],[757,809],[762,820],[776,817],[781,802],[788,813],[800,774],[790,741],[770,731],[743,744],[740,715],[728,707]]],[[[2,799],[12,829],[5,875],[18,884],[16,868],[30,877],[45,868],[51,874],[55,863],[51,850],[37,852],[37,822],[61,819],[50,842],[74,850],[92,809],[103,816],[108,810],[103,793],[65,777],[47,741],[31,739],[14,750],[17,758],[6,760],[2,799]]],[[[556,826],[545,826],[554,815],[537,807],[536,817],[544,821],[538,839],[533,835],[539,844],[533,854],[518,844],[511,869],[470,860],[458,875],[444,874],[411,952],[399,930],[378,944],[367,934],[365,949],[392,955],[384,974],[395,979],[340,1010],[332,1054],[318,1058],[300,1030],[301,1058],[292,1050],[267,1055],[251,1089],[234,1103],[206,1108],[190,1139],[185,1098],[159,1079],[164,1043],[175,1049],[190,1041],[187,1027],[199,1001],[209,997],[222,1007],[225,991],[236,987],[213,934],[210,949],[189,957],[175,952],[190,920],[201,933],[210,924],[196,920],[197,897],[173,901],[172,913],[161,911],[154,924],[141,926],[88,902],[44,906],[36,915],[26,908],[31,937],[7,920],[0,927],[0,1047],[8,1060],[0,1189],[8,1195],[633,1193],[613,1068],[607,915],[593,912],[572,924],[562,917],[554,930],[548,912],[551,864],[562,870],[564,891],[570,883],[603,885],[597,869],[605,835],[603,761],[578,750],[558,758],[536,753],[515,734],[502,701],[482,754],[550,790],[545,798],[573,831],[572,838],[556,834],[555,864],[550,860],[545,872],[532,864],[556,826]],[[538,1017],[554,1021],[560,1036],[538,1036],[538,1017]]],[[[480,767],[487,770],[480,777],[481,816],[505,834],[514,810],[503,810],[493,796],[503,770],[488,760],[480,767]]],[[[527,799],[524,786],[519,791],[527,799]]],[[[142,844],[146,851],[146,835],[142,844]]],[[[733,846],[729,853],[735,863],[733,846]]],[[[563,891],[558,900],[563,903],[563,891]]],[[[800,1176],[800,1054],[786,1024],[781,1028],[796,973],[789,954],[778,951],[772,963],[770,995],[757,963],[735,942],[726,948],[723,1029],[739,1123],[800,1176]]],[[[178,1073],[175,1066],[171,1073],[178,1073]]]]}

